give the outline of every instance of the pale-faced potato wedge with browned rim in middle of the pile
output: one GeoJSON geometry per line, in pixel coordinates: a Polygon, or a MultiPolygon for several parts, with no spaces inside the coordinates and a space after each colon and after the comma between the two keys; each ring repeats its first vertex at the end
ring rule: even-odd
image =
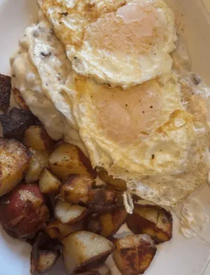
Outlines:
{"type": "Polygon", "coordinates": [[[54,207],[54,216],[62,223],[72,224],[86,216],[88,210],[84,206],[57,200],[54,207]]]}

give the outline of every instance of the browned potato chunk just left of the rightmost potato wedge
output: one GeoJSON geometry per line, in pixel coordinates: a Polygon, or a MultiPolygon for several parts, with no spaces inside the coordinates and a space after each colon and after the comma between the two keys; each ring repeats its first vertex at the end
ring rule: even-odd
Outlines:
{"type": "Polygon", "coordinates": [[[113,209],[88,220],[87,229],[103,237],[114,235],[125,222],[127,212],[124,208],[113,209]]]}

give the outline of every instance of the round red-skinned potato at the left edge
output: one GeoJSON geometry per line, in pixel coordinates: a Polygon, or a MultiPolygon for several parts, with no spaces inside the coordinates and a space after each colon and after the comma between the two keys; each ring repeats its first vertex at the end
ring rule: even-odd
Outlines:
{"type": "Polygon", "coordinates": [[[0,222],[12,237],[26,237],[43,229],[49,219],[44,195],[36,183],[20,183],[0,198],[0,222]]]}

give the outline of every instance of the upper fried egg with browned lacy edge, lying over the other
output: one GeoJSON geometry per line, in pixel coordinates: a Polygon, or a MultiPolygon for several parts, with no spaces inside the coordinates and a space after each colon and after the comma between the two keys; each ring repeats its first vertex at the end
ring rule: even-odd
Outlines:
{"type": "Polygon", "coordinates": [[[176,33],[162,0],[37,2],[77,73],[123,88],[168,79],[176,33]]]}

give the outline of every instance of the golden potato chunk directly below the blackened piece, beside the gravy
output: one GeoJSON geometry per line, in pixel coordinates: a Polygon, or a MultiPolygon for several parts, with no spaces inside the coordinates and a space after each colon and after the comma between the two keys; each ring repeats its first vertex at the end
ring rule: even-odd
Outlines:
{"type": "Polygon", "coordinates": [[[49,150],[54,141],[48,136],[42,125],[32,125],[24,132],[23,143],[34,150],[49,150]]]}

